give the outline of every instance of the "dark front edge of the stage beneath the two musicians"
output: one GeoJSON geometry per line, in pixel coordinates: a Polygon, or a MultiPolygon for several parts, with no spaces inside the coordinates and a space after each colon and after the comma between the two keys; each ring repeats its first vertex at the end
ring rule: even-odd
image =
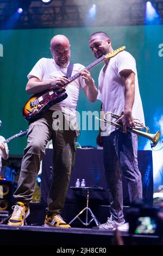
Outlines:
{"type": "MultiPolygon", "coordinates": [[[[116,245],[114,232],[94,228],[45,228],[0,225],[0,245],[53,245],[55,249],[116,245]]],[[[158,236],[121,233],[124,245],[159,245],[158,236]]]]}

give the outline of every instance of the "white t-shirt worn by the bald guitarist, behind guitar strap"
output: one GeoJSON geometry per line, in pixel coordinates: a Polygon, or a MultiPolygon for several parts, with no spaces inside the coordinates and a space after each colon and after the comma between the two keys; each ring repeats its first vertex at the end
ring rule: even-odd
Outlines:
{"type": "MultiPolygon", "coordinates": [[[[54,62],[54,59],[42,58],[35,64],[34,68],[30,71],[27,77],[29,79],[30,77],[35,76],[41,81],[53,79],[55,77],[63,77],[67,74],[67,66],[66,68],[60,68],[54,62]]],[[[77,74],[84,68],[85,67],[81,64],[74,64],[71,76],[77,74]]],[[[62,113],[70,115],[70,119],[76,118],[76,107],[79,97],[79,90],[81,87],[85,87],[85,80],[79,76],[76,80],[72,81],[65,87],[68,97],[63,101],[56,103],[49,109],[54,111],[62,111],[62,113]]]]}

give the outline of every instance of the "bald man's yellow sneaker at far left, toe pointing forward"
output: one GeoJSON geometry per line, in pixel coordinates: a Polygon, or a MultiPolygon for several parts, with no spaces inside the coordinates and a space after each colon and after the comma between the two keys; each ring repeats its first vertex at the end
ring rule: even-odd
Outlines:
{"type": "Polygon", "coordinates": [[[23,226],[24,220],[29,215],[29,205],[22,202],[17,202],[17,205],[12,206],[12,209],[14,209],[14,211],[12,212],[8,225],[23,226]]]}

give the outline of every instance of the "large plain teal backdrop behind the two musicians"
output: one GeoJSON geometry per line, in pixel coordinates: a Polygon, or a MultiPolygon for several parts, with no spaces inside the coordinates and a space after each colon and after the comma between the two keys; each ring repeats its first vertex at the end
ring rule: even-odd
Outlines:
{"type": "MultiPolygon", "coordinates": [[[[162,129],[163,99],[163,26],[119,26],[94,28],[48,28],[0,31],[0,119],[1,135],[5,138],[20,130],[26,130],[28,123],[22,118],[21,107],[29,99],[25,88],[27,74],[42,57],[51,58],[49,42],[53,35],[64,34],[70,39],[71,61],[88,65],[95,60],[88,45],[89,36],[95,31],[104,31],[112,39],[114,49],[125,45],[136,59],[140,93],[146,124],[151,133],[162,129]],[[159,128],[160,127],[160,128],[159,128]]],[[[98,73],[102,64],[91,70],[98,86],[98,73]]],[[[101,103],[87,101],[80,92],[77,110],[99,111],[101,103]]],[[[80,145],[96,145],[97,130],[83,130],[78,140],[80,145]]],[[[146,138],[140,138],[139,149],[149,149],[146,138]]],[[[161,142],[158,148],[161,147],[161,142]]],[[[9,143],[10,154],[21,155],[26,147],[26,137],[16,138],[9,143]]],[[[158,151],[161,152],[161,151],[158,151]]],[[[160,167],[161,168],[161,167],[160,167]]]]}

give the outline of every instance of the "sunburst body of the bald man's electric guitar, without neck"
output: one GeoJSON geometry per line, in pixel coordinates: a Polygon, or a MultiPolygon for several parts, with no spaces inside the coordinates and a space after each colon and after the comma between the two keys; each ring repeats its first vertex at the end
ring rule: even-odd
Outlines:
{"type": "Polygon", "coordinates": [[[34,94],[23,107],[22,115],[28,121],[37,119],[52,105],[65,100],[67,96],[65,89],[52,89],[34,94]]]}

